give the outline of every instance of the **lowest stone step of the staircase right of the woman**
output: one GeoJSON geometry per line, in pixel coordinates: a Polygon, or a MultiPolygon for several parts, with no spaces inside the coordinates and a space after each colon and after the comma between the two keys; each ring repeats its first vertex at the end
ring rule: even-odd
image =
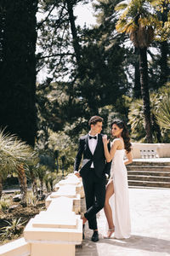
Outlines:
{"type": "Polygon", "coordinates": [[[139,180],[128,180],[128,186],[138,186],[138,187],[156,187],[156,188],[169,188],[170,183],[162,182],[151,182],[151,181],[139,181],[139,180]]]}

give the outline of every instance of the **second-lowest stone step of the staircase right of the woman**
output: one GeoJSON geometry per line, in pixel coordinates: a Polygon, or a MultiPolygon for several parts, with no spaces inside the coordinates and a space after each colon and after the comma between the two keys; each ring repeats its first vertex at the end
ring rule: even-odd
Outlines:
{"type": "Polygon", "coordinates": [[[170,183],[170,177],[157,177],[157,176],[147,176],[147,175],[128,175],[127,179],[132,181],[132,180],[137,180],[137,181],[151,181],[151,182],[162,182],[162,183],[170,183]]]}

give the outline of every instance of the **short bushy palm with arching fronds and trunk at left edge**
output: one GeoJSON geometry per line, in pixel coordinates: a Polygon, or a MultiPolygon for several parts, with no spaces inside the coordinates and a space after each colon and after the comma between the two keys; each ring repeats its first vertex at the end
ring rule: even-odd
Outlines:
{"type": "Polygon", "coordinates": [[[26,172],[24,165],[34,159],[35,154],[30,146],[18,137],[0,131],[0,198],[3,190],[3,178],[11,172],[17,172],[20,179],[23,201],[26,201],[26,172]]]}

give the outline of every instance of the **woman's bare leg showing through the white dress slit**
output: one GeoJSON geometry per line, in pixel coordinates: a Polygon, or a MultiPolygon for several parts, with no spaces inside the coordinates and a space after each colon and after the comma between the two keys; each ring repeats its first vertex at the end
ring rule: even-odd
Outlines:
{"type": "Polygon", "coordinates": [[[114,194],[114,186],[113,186],[113,181],[107,184],[106,187],[106,193],[105,193],[105,217],[107,218],[107,222],[109,225],[109,231],[108,231],[108,238],[111,237],[112,233],[114,232],[114,224],[113,224],[113,218],[112,218],[112,211],[111,211],[111,206],[109,204],[109,200],[111,198],[111,195],[114,194]]]}

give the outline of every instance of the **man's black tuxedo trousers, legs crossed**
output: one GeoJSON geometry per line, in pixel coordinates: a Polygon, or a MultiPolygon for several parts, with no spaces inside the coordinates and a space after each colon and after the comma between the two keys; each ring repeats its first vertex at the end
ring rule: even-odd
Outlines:
{"type": "Polygon", "coordinates": [[[88,219],[89,229],[97,230],[96,213],[105,206],[105,174],[97,177],[94,168],[90,168],[87,177],[82,177],[82,183],[87,207],[84,216],[88,219]]]}

